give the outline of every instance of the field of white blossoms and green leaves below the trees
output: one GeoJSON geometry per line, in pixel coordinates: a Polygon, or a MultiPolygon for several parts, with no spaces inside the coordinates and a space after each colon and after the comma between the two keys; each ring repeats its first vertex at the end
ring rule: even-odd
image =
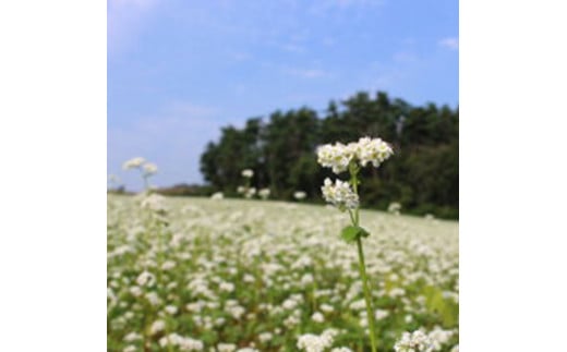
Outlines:
{"type": "MultiPolygon", "coordinates": [[[[357,247],[339,238],[348,215],[158,201],[108,196],[109,351],[370,350],[357,247]]],[[[421,329],[431,351],[458,351],[458,222],[366,210],[361,221],[378,350],[421,329]]]]}

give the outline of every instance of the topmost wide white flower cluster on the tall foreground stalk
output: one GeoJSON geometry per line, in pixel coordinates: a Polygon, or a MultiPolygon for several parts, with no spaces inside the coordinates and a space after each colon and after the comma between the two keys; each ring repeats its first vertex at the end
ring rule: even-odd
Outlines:
{"type": "Polygon", "coordinates": [[[351,161],[365,167],[370,162],[377,168],[394,154],[391,147],[381,138],[362,137],[359,142],[347,145],[336,143],[326,144],[317,148],[317,162],[325,168],[331,168],[339,174],[347,171],[351,161]]]}

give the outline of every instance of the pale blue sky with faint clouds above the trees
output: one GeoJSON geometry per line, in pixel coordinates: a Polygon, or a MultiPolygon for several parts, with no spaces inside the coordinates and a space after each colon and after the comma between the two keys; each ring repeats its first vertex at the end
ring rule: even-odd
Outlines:
{"type": "Polygon", "coordinates": [[[108,173],[202,182],[221,126],[355,92],[458,105],[458,1],[108,0],[108,173]]]}

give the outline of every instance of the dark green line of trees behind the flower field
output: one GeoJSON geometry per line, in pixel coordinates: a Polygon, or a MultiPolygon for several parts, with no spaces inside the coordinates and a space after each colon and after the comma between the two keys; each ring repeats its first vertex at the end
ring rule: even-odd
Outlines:
{"type": "Polygon", "coordinates": [[[222,128],[220,139],[201,156],[201,172],[208,186],[228,196],[243,184],[241,171],[252,169],[252,185],[269,187],[272,198],[292,199],[303,191],[307,201],[323,203],[321,185],[331,174],[318,166],[317,146],[362,136],[381,137],[396,153],[378,169],[362,171],[363,207],[386,209],[397,202],[402,213],[458,218],[458,108],[411,106],[384,92],[331,100],[323,112],[277,110],[267,119],[249,119],[242,129],[222,128]]]}

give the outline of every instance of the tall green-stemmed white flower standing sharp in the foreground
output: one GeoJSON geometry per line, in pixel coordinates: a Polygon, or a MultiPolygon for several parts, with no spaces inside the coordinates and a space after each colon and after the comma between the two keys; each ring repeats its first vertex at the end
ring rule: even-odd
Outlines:
{"type": "Polygon", "coordinates": [[[372,163],[374,167],[389,158],[394,154],[391,147],[381,138],[360,138],[359,142],[343,145],[337,143],[335,145],[324,145],[317,148],[317,161],[327,168],[331,168],[336,174],[349,171],[350,179],[348,182],[325,179],[321,191],[325,201],[335,205],[339,210],[348,210],[351,224],[341,231],[341,236],[349,243],[357,243],[359,255],[359,271],[364,291],[364,301],[366,304],[366,316],[369,320],[370,341],[372,352],[376,352],[376,328],[374,321],[374,309],[372,306],[372,293],[366,275],[366,265],[364,263],[364,251],[362,239],[367,238],[370,233],[360,226],[360,196],[359,172],[361,168],[372,163]]]}

